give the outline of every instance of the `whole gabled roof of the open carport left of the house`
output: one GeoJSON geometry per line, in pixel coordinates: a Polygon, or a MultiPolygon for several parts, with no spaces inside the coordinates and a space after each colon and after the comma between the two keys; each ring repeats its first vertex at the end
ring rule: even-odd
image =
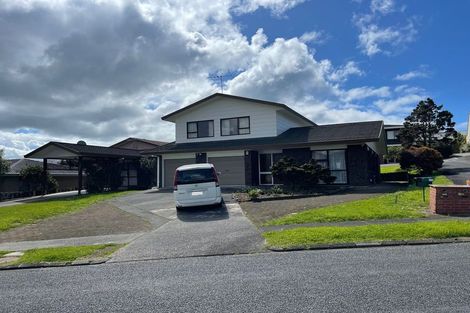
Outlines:
{"type": "Polygon", "coordinates": [[[67,142],[51,141],[25,155],[33,159],[62,159],[73,157],[123,157],[138,158],[140,153],[132,149],[120,149],[103,146],[82,145],[67,142]]]}

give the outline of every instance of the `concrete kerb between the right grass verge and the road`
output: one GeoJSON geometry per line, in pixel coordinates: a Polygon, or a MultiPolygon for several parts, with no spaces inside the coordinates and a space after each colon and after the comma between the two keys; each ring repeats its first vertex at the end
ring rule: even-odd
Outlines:
{"type": "Polygon", "coordinates": [[[446,239],[412,239],[412,240],[388,240],[375,242],[350,242],[350,243],[331,243],[316,244],[306,246],[275,247],[267,245],[268,250],[274,252],[288,252],[301,250],[331,250],[331,249],[354,249],[354,248],[377,248],[390,246],[417,246],[417,245],[437,245],[446,243],[466,243],[470,242],[470,237],[455,237],[446,239]]]}

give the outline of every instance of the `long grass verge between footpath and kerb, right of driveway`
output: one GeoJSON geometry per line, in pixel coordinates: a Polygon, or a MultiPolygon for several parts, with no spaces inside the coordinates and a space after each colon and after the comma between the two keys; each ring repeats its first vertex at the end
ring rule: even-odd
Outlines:
{"type": "Polygon", "coordinates": [[[318,244],[390,240],[446,239],[470,236],[470,222],[416,222],[347,227],[299,227],[263,234],[268,247],[308,248],[318,244]]]}

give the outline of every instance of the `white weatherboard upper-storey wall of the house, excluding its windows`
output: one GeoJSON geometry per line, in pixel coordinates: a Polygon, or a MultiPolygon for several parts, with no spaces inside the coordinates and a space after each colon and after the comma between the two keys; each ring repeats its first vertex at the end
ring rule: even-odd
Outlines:
{"type": "MultiPolygon", "coordinates": [[[[215,98],[199,104],[194,108],[190,108],[174,118],[176,124],[176,142],[184,143],[273,137],[279,134],[278,128],[284,129],[286,127],[278,127],[277,125],[278,110],[283,109],[273,105],[250,102],[247,100],[215,98]],[[221,119],[242,116],[250,117],[250,134],[234,136],[220,135],[221,119]],[[214,121],[214,137],[188,139],[187,123],[205,120],[214,121]]],[[[282,125],[292,125],[292,122],[288,121],[288,119],[289,118],[286,117],[286,119],[282,121],[282,125]]],[[[298,121],[299,124],[297,126],[304,126],[304,124],[300,123],[300,119],[298,119],[298,121]]]]}

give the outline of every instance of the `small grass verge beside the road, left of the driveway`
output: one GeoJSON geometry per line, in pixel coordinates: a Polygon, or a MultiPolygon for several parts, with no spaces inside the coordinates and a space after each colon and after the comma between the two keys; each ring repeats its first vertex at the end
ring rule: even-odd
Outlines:
{"type": "Polygon", "coordinates": [[[91,246],[73,246],[41,248],[25,251],[17,261],[8,265],[73,262],[79,259],[101,258],[114,253],[123,245],[102,244],[91,246]]]}

